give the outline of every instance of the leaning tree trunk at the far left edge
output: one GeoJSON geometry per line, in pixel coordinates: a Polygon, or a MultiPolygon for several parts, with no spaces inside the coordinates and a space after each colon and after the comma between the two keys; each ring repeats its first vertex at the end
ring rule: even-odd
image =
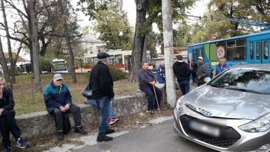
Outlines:
{"type": "Polygon", "coordinates": [[[5,10],[3,0],[1,0],[1,8],[2,8],[2,12],[3,12],[3,21],[5,23],[6,38],[8,40],[8,56],[9,56],[8,59],[10,61],[11,83],[14,84],[14,83],[16,83],[15,64],[14,64],[13,56],[12,56],[12,50],[11,50],[11,44],[10,44],[10,32],[8,32],[8,22],[6,20],[6,10],[5,10]]]}

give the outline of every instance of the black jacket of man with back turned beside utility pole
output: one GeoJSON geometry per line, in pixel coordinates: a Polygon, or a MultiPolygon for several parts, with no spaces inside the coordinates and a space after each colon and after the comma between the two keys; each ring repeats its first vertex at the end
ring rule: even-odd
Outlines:
{"type": "Polygon", "coordinates": [[[181,82],[183,80],[190,79],[190,67],[184,61],[176,61],[172,68],[174,70],[174,75],[177,77],[177,81],[181,82]]]}

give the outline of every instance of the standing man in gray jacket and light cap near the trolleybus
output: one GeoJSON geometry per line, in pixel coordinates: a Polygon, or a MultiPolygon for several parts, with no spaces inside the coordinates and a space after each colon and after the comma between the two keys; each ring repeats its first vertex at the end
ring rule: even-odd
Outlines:
{"type": "Polygon", "coordinates": [[[208,71],[207,66],[205,64],[203,64],[203,57],[198,57],[198,62],[199,62],[199,67],[198,67],[198,70],[196,72],[197,85],[201,86],[201,85],[206,83],[206,82],[204,82],[204,78],[208,76],[209,71],[208,71]]]}

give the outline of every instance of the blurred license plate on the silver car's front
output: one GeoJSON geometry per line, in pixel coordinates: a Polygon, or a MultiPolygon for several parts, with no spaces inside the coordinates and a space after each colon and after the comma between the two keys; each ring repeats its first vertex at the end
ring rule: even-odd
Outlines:
{"type": "Polygon", "coordinates": [[[205,133],[206,135],[212,135],[213,137],[219,137],[220,135],[220,130],[217,127],[201,122],[190,121],[189,128],[200,133],[205,133]]]}

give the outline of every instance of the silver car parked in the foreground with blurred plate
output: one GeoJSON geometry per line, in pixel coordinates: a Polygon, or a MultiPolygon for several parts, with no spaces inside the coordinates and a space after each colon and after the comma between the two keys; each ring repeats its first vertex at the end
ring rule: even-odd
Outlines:
{"type": "Polygon", "coordinates": [[[270,151],[270,65],[234,66],[180,97],[174,131],[217,151],[270,151]]]}

